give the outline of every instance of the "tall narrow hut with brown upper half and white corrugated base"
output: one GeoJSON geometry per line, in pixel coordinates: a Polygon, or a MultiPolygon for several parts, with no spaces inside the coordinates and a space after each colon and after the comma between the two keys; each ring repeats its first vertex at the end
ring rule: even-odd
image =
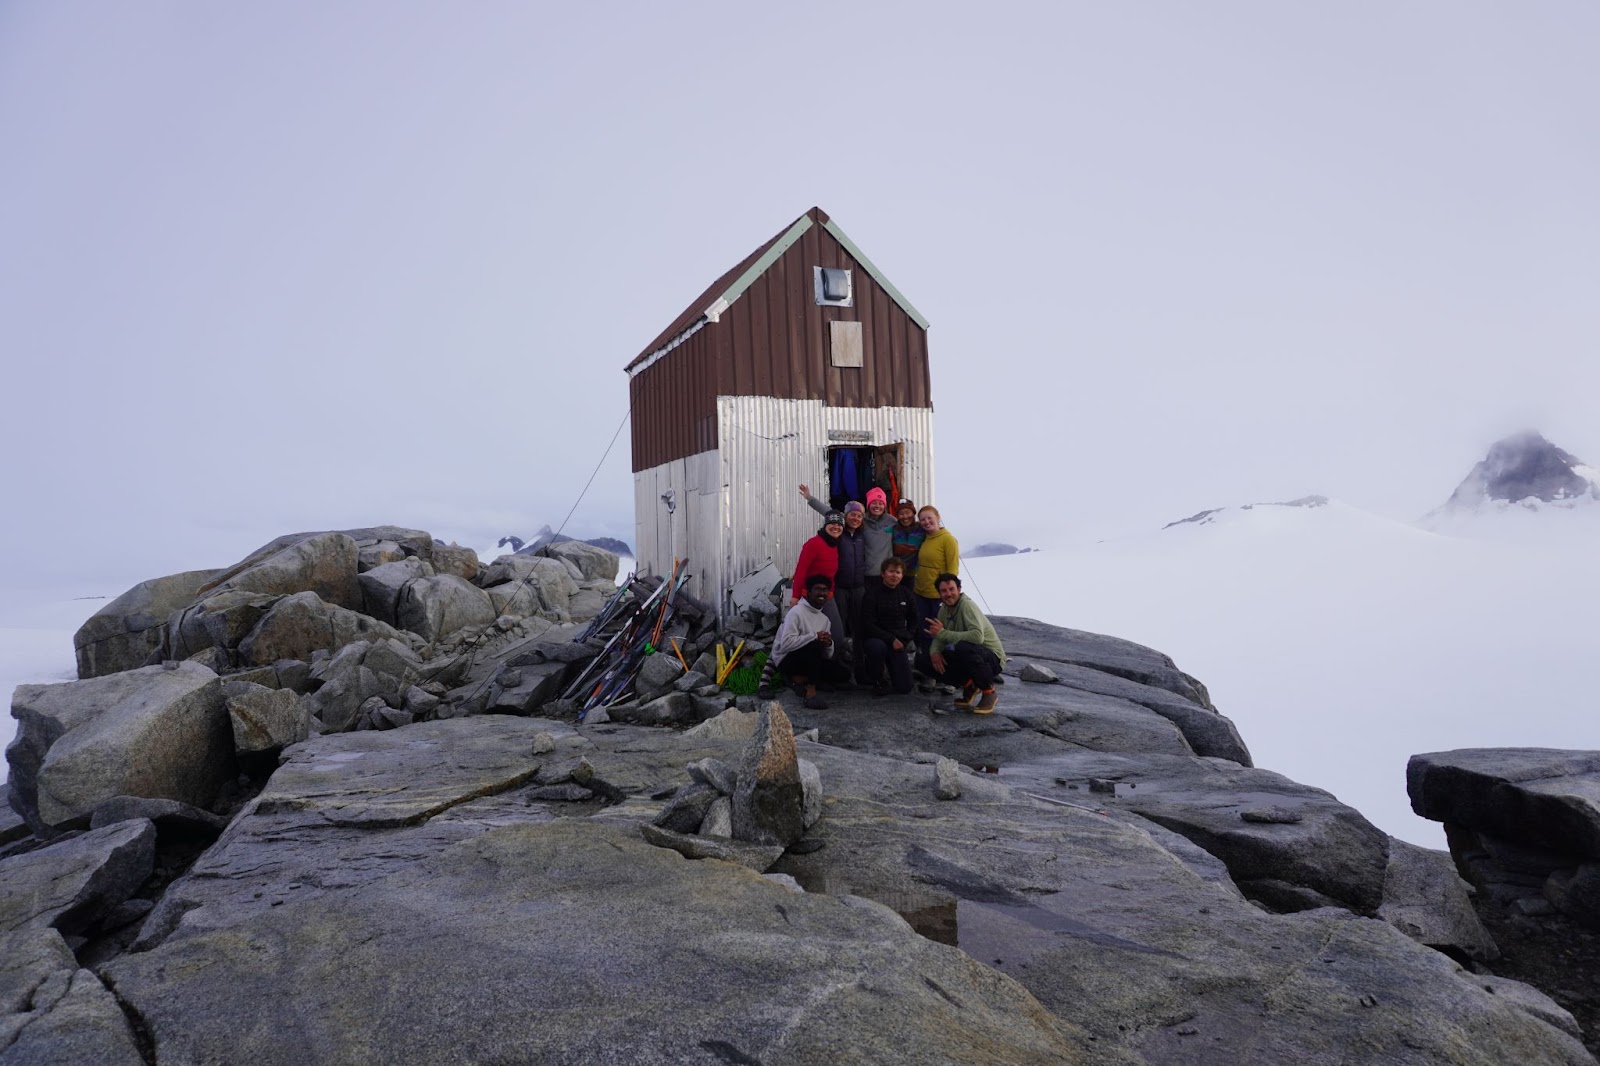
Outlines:
{"type": "Polygon", "coordinates": [[[638,563],[690,589],[794,570],[819,515],[882,485],[933,498],[928,322],[821,208],[758,246],[627,365],[638,563]]]}

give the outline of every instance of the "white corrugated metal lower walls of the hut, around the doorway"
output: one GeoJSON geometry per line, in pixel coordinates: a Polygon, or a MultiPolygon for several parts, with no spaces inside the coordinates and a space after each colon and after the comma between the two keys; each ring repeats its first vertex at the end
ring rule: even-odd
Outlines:
{"type": "Polygon", "coordinates": [[[829,445],[902,445],[901,493],[933,499],[933,411],[912,407],[826,407],[821,400],[717,397],[717,451],[662,463],[634,475],[634,522],[640,570],[669,573],[688,557],[690,591],[725,610],[734,581],[768,559],[794,571],[800,546],[819,517],[805,499],[827,483],[829,445]],[[830,440],[830,431],[851,440],[830,440]],[[661,495],[672,490],[667,520],[661,495]],[[675,538],[675,539],[674,539],[675,538]]]}

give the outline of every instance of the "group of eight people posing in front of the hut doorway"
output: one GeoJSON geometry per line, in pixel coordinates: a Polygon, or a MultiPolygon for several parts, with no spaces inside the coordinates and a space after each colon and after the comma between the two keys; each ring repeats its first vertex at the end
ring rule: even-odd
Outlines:
{"type": "Polygon", "coordinates": [[[1005,648],[962,592],[960,544],[938,507],[898,499],[891,514],[882,488],[843,511],[806,485],[800,495],[822,514],[822,528],[800,547],[771,675],[794,685],[805,706],[826,707],[818,685],[854,677],[875,696],[904,695],[917,672],[958,688],[958,709],[994,714],[1005,648]]]}

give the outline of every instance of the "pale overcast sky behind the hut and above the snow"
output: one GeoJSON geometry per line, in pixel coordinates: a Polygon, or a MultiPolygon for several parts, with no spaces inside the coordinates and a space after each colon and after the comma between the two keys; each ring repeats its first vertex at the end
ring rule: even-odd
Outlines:
{"type": "Polygon", "coordinates": [[[558,523],[811,205],[933,323],[968,543],[1600,461],[1600,6],[1310,6],[3,3],[0,547],[558,523]]]}

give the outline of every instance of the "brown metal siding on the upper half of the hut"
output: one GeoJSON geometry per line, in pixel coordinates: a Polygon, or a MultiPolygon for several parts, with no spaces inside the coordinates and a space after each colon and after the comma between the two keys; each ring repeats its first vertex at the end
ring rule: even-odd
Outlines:
{"type": "Polygon", "coordinates": [[[826,214],[814,211],[813,219],[818,224],[720,322],[706,323],[630,379],[635,472],[715,448],[717,395],[933,407],[926,331],[822,227],[826,214]],[[811,271],[819,266],[853,272],[853,307],[816,304],[811,271]],[[832,365],[829,323],[835,320],[862,323],[862,367],[832,365]]]}

